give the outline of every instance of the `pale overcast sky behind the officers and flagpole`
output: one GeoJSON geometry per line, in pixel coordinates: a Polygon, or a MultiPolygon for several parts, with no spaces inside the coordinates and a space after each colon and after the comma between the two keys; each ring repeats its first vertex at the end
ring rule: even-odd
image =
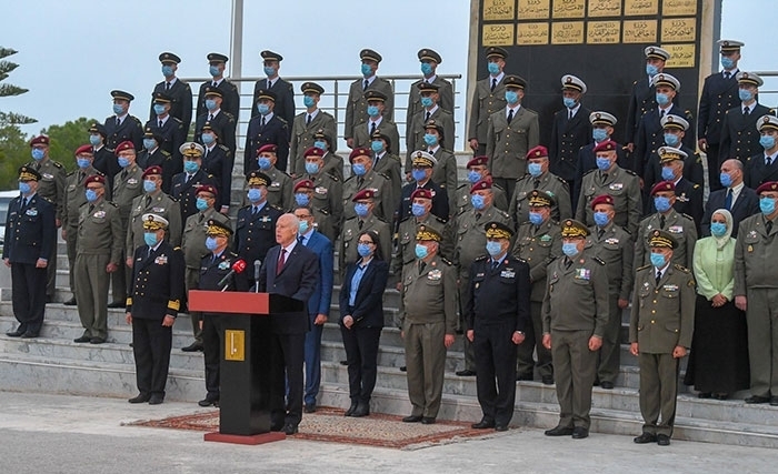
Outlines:
{"type": "MultiPolygon", "coordinates": [[[[11,60],[21,64],[6,82],[30,92],[2,99],[0,110],[37,118],[27,133],[79,117],[104,119],[112,89],[133,93],[130,112],[146,121],[162,79],[160,52],[182,58],[179,77],[205,77],[209,52],[230,54],[230,0],[6,3],[2,46],[18,50],[11,60]]],[[[243,77],[262,74],[262,49],[283,54],[282,77],[358,74],[366,47],[383,56],[379,74],[419,74],[416,52],[425,47],[442,56],[438,72],[467,73],[470,0],[392,0],[373,10],[355,0],[245,3],[243,77]]],[[[769,40],[775,11],[776,0],[725,0],[721,36],[746,42],[741,69],[778,69],[769,40]]]]}

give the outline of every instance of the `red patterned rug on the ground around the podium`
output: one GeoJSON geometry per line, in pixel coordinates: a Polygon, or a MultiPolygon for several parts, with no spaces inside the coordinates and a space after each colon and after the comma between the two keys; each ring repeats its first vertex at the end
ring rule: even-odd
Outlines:
{"type": "MultiPolygon", "coordinates": [[[[128,426],[164,427],[215,432],[219,430],[219,411],[126,423],[128,426]]],[[[505,435],[492,430],[473,430],[470,423],[438,421],[431,425],[402,423],[401,416],[371,414],[355,418],[343,416],[343,410],[326,406],[305,414],[300,432],[287,440],[325,441],[365,444],[398,450],[420,450],[473,438],[505,435]]]]}

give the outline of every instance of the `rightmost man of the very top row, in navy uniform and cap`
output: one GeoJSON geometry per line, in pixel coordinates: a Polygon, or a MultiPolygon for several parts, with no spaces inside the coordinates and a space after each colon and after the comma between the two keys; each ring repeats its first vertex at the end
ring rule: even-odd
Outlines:
{"type": "MultiPolygon", "coordinates": [[[[724,71],[705,78],[697,118],[697,144],[708,157],[708,183],[710,191],[727,188],[719,182],[719,143],[721,121],[729,109],[740,105],[738,82],[735,79],[740,60],[740,41],[719,40],[724,71]]],[[[669,143],[668,143],[669,144],[669,143]]]]}

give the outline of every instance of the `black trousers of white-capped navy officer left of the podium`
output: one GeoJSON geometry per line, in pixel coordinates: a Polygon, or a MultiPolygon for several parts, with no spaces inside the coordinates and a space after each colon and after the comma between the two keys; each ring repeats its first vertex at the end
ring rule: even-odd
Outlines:
{"type": "Polygon", "coordinates": [[[172,337],[172,326],[163,326],[162,320],[132,319],[132,352],[140,393],[164,396],[172,337]]]}

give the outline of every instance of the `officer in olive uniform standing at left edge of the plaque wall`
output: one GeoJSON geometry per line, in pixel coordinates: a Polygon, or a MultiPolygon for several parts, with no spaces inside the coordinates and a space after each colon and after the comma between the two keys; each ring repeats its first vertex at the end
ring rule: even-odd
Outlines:
{"type": "MultiPolygon", "coordinates": [[[[503,110],[506,102],[506,67],[508,51],[500,47],[488,47],[483,51],[489,75],[476,82],[476,91],[470,103],[468,121],[468,142],[476,155],[487,153],[487,131],[492,113],[503,110]]],[[[536,143],[537,144],[537,143],[536,143]]],[[[499,183],[498,183],[499,184],[499,183]]]]}

